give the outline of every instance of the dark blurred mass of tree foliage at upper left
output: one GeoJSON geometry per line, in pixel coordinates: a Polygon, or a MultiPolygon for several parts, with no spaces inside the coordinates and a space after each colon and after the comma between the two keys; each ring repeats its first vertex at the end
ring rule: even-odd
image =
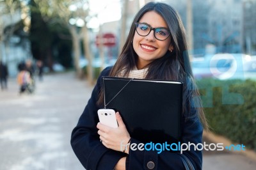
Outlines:
{"type": "Polygon", "coordinates": [[[54,61],[65,68],[71,68],[72,41],[67,26],[56,22],[60,20],[58,16],[54,19],[47,19],[45,22],[35,1],[32,0],[30,5],[32,10],[29,40],[34,58],[47,58],[51,71],[54,61]]]}

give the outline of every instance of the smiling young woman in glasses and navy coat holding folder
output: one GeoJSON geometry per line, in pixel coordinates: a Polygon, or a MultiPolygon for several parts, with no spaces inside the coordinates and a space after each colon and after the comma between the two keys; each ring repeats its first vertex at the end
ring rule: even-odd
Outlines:
{"type": "MultiPolygon", "coordinates": [[[[103,75],[184,82],[181,143],[202,143],[202,124],[207,127],[189,63],[184,27],[173,8],[164,3],[148,3],[137,13],[127,41],[113,67],[102,71],[77,127],[71,144],[86,169],[185,169],[180,153],[131,150],[120,143],[141,143],[131,138],[120,114],[118,128],[99,123],[103,75]],[[196,107],[195,107],[196,106],[196,107]],[[201,120],[201,121],[200,121],[201,120]],[[125,142],[124,142],[125,141],[125,142]]],[[[191,146],[182,153],[195,169],[202,169],[202,151],[191,146]]]]}

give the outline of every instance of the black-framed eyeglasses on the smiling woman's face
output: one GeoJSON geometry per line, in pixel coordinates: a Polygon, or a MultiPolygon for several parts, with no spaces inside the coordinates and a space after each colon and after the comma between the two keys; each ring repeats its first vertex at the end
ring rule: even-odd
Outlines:
{"type": "Polygon", "coordinates": [[[164,41],[170,36],[170,31],[166,27],[152,27],[145,23],[135,22],[136,32],[140,36],[149,35],[150,31],[154,31],[154,36],[157,40],[164,41]]]}

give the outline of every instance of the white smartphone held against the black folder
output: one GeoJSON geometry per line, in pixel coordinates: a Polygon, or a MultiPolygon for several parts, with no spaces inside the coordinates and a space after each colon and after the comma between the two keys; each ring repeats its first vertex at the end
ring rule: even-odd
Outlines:
{"type": "Polygon", "coordinates": [[[108,127],[117,128],[116,112],[113,109],[99,109],[98,116],[100,123],[108,127]]]}

